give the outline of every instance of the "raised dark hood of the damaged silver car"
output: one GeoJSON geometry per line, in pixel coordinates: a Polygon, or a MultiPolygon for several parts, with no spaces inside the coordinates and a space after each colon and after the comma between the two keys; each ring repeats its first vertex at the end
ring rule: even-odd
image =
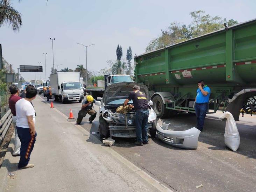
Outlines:
{"type": "Polygon", "coordinates": [[[134,85],[140,86],[141,92],[146,94],[146,97],[149,101],[150,98],[149,98],[148,87],[143,84],[133,83],[133,82],[122,82],[122,83],[115,83],[112,85],[108,85],[103,94],[102,101],[106,105],[108,102],[111,102],[117,99],[127,99],[130,92],[133,91],[134,85]]]}

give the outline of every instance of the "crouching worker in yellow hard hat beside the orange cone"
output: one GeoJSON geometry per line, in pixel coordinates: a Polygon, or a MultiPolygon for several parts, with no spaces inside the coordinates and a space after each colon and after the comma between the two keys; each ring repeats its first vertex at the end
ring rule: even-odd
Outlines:
{"type": "Polygon", "coordinates": [[[78,112],[78,118],[77,118],[77,125],[81,123],[85,115],[88,113],[90,116],[89,122],[92,123],[92,121],[95,119],[97,112],[92,109],[93,104],[95,103],[95,99],[91,95],[88,95],[86,99],[84,99],[82,103],[82,108],[78,112]]]}

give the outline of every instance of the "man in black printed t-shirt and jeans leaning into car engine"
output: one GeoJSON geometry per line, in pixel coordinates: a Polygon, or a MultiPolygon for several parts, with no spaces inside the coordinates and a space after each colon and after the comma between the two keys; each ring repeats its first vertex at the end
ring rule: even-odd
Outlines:
{"type": "Polygon", "coordinates": [[[133,100],[134,106],[130,104],[129,107],[136,110],[135,124],[137,141],[135,144],[142,146],[143,144],[148,144],[148,99],[146,94],[140,91],[140,86],[134,85],[133,92],[125,100],[124,105],[127,105],[130,100],[133,100]]]}

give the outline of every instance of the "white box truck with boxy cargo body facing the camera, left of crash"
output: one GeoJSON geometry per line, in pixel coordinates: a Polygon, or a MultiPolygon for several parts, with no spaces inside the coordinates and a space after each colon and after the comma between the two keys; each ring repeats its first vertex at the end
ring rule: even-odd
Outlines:
{"type": "Polygon", "coordinates": [[[79,101],[84,99],[80,72],[57,72],[50,74],[51,92],[55,101],[79,101]]]}

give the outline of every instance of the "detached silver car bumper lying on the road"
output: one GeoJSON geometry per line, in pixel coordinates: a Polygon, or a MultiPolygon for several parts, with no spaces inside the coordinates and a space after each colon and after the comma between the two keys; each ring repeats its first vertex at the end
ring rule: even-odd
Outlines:
{"type": "Polygon", "coordinates": [[[170,123],[166,124],[161,119],[157,121],[156,131],[160,140],[174,147],[197,149],[200,130],[193,127],[185,131],[174,131],[168,129],[169,125],[170,123]]]}

